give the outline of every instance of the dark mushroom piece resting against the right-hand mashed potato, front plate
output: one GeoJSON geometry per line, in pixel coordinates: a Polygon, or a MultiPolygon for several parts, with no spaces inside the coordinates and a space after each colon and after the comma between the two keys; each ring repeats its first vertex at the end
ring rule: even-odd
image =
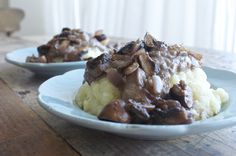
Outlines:
{"type": "Polygon", "coordinates": [[[192,90],[183,80],[181,80],[179,84],[173,85],[169,94],[173,99],[178,100],[183,107],[187,109],[193,107],[192,90]]]}

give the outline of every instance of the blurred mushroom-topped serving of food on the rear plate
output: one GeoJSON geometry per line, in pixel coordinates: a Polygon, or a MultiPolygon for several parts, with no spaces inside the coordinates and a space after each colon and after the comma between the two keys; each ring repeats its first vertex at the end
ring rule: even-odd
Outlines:
{"type": "Polygon", "coordinates": [[[108,51],[109,40],[102,31],[93,35],[80,29],[63,28],[47,44],[37,48],[38,56],[28,56],[26,62],[53,63],[82,61],[108,51]]]}

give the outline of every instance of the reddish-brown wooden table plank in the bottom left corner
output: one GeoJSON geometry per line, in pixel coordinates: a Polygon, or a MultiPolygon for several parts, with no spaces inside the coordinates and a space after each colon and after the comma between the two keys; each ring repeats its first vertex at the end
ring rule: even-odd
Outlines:
{"type": "Polygon", "coordinates": [[[0,155],[79,155],[0,79],[0,155]]]}

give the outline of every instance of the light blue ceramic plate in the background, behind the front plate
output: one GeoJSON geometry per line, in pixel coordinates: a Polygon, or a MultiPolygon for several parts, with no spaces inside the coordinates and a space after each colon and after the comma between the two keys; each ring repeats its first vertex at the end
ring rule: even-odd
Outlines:
{"type": "Polygon", "coordinates": [[[38,56],[35,47],[15,50],[6,55],[7,62],[26,68],[35,74],[43,76],[55,76],[73,69],[85,68],[86,61],[63,62],[63,63],[26,63],[27,56],[38,56]]]}

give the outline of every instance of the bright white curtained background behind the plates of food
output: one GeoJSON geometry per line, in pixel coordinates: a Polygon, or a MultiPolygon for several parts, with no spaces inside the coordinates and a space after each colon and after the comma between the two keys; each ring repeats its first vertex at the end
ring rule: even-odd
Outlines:
{"type": "Polygon", "coordinates": [[[112,36],[236,51],[234,0],[11,0],[26,17],[19,35],[53,35],[61,28],[103,29],[112,36]]]}

